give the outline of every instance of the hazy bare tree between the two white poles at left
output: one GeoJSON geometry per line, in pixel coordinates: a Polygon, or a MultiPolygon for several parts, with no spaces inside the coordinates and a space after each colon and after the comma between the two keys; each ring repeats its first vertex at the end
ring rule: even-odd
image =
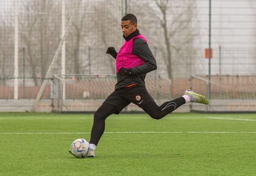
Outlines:
{"type": "MultiPolygon", "coordinates": [[[[60,40],[60,10],[56,10],[60,5],[44,0],[26,1],[23,7],[26,13],[20,19],[20,36],[29,64],[26,71],[33,77],[44,77],[60,40]]],[[[37,78],[34,82],[38,85],[37,78]]]]}

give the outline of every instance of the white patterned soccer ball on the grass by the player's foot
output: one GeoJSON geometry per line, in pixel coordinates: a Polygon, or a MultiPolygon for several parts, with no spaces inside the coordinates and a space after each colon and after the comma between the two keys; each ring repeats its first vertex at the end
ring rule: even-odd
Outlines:
{"type": "Polygon", "coordinates": [[[77,139],[71,144],[69,152],[77,158],[84,158],[90,152],[90,144],[85,139],[77,139]]]}

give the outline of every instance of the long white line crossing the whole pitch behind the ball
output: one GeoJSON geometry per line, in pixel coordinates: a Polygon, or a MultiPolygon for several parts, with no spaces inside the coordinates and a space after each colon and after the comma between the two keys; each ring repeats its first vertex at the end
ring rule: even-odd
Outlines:
{"type": "MultiPolygon", "coordinates": [[[[91,134],[90,132],[0,132],[0,135],[66,135],[91,134]]],[[[104,134],[256,134],[256,132],[104,132],[104,134]]]]}

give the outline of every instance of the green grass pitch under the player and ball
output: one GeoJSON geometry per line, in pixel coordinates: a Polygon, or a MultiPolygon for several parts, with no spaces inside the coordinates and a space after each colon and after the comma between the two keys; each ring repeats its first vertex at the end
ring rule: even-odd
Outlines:
{"type": "Polygon", "coordinates": [[[172,113],[107,118],[96,158],[68,153],[90,140],[93,114],[0,113],[0,175],[256,175],[256,115],[172,113]]]}

